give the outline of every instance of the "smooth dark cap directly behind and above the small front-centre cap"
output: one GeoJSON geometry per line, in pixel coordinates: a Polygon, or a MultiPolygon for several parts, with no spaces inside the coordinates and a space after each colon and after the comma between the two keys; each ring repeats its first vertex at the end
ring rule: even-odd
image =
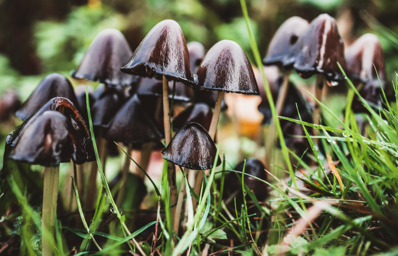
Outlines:
{"type": "Polygon", "coordinates": [[[213,111],[206,103],[195,103],[179,113],[173,120],[173,129],[178,131],[187,123],[195,122],[209,131],[213,111]]]}

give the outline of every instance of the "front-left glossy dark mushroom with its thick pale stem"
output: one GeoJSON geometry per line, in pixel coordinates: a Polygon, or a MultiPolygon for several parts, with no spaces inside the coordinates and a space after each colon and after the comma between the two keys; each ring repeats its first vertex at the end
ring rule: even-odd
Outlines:
{"type": "MultiPolygon", "coordinates": [[[[60,110],[62,112],[62,109],[60,110]]],[[[15,161],[45,166],[42,214],[43,256],[53,255],[49,238],[54,234],[59,163],[69,162],[72,159],[74,163],[82,164],[88,160],[87,151],[80,136],[81,131],[61,112],[44,111],[28,118],[18,135],[13,135],[14,140],[12,140],[13,145],[9,155],[15,161]]],[[[76,117],[79,118],[80,116],[77,115],[76,117]]]]}

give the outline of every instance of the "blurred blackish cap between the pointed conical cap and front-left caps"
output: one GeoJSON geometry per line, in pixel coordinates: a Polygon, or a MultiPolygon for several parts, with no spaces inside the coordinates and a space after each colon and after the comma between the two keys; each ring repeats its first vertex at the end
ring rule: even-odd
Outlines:
{"type": "Polygon", "coordinates": [[[123,94],[113,87],[99,87],[94,91],[91,118],[95,129],[109,128],[110,121],[124,103],[123,94]]]}

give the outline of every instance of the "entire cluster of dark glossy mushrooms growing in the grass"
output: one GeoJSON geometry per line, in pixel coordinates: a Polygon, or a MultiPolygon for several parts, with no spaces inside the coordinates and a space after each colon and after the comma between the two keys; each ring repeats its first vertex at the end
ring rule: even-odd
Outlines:
{"type": "MultiPolygon", "coordinates": [[[[361,95],[373,105],[380,106],[380,83],[384,88],[385,71],[382,49],[375,35],[363,35],[344,50],[333,17],[321,14],[310,23],[300,17],[287,19],[273,37],[263,60],[267,66],[277,65],[284,70],[284,75],[280,76],[275,66],[265,68],[277,102],[277,114],[298,119],[297,104],[303,121],[319,124],[319,104],[315,104],[312,113],[308,102],[289,81],[289,74],[293,69],[302,78],[316,74],[316,97],[322,101],[324,83],[334,86],[344,80],[338,62],[357,83],[361,95]]],[[[144,170],[152,150],[162,149],[163,158],[170,162],[170,204],[176,205],[174,231],[177,234],[185,183],[181,183],[178,192],[175,166],[184,167],[189,185],[199,194],[203,174],[197,170],[209,170],[214,163],[217,166],[221,163],[214,141],[220,112],[226,109],[224,93],[261,93],[258,110],[264,115],[263,123],[271,122],[262,81],[256,81],[242,48],[233,41],[222,40],[205,54],[200,43],[185,43],[181,28],[173,20],[161,21],[153,27],[134,52],[122,33],[105,29],[94,39],[72,77],[97,81],[101,85],[90,91],[87,103],[86,86],[74,90],[62,74],[46,76],[16,112],[24,122],[6,142],[9,159],[45,166],[43,233],[52,234],[54,227],[59,164],[72,159],[79,172],[83,172],[90,168],[84,163],[96,159],[88,129],[87,104],[90,105],[99,158],[104,168],[107,155],[115,146],[113,141],[123,143],[128,154],[140,150],[137,162],[144,170]],[[187,107],[171,122],[175,105],[187,107]]],[[[353,103],[353,109],[364,111],[359,101],[353,103]]],[[[302,138],[292,136],[303,135],[301,125],[288,121],[282,121],[281,125],[284,134],[289,134],[286,136],[289,147],[302,151],[308,147],[302,138]]],[[[268,136],[273,144],[274,134],[268,136]]],[[[236,167],[239,169],[243,169],[243,164],[236,167]]],[[[266,179],[264,169],[257,159],[246,162],[246,173],[261,179],[266,179]]],[[[97,173],[98,166],[93,162],[90,182],[85,188],[86,204],[93,204],[98,191],[97,173]]],[[[128,185],[124,181],[129,173],[130,159],[126,155],[117,196],[118,207],[122,204],[128,185]]],[[[135,174],[143,182],[145,174],[140,169],[135,174]]],[[[234,176],[226,176],[231,193],[241,191],[241,184],[234,176]]],[[[263,183],[246,178],[245,182],[259,200],[265,200],[267,188],[261,185],[263,183]]],[[[44,235],[42,246],[43,256],[52,255],[44,235]]]]}

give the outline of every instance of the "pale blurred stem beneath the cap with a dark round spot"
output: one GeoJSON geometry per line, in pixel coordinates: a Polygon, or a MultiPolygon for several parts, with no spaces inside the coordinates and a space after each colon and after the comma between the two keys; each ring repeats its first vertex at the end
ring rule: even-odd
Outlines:
{"type": "MultiPolygon", "coordinates": [[[[278,92],[278,99],[276,101],[275,109],[276,114],[279,116],[282,112],[283,103],[285,103],[287,92],[289,91],[289,76],[291,70],[288,70],[285,73],[285,77],[283,78],[283,83],[281,88],[278,92]]],[[[275,130],[275,122],[271,121],[271,125],[269,126],[269,132],[267,136],[267,141],[265,142],[265,167],[269,168],[269,159],[271,159],[273,148],[275,145],[275,137],[276,137],[276,130],[275,130]]]]}

